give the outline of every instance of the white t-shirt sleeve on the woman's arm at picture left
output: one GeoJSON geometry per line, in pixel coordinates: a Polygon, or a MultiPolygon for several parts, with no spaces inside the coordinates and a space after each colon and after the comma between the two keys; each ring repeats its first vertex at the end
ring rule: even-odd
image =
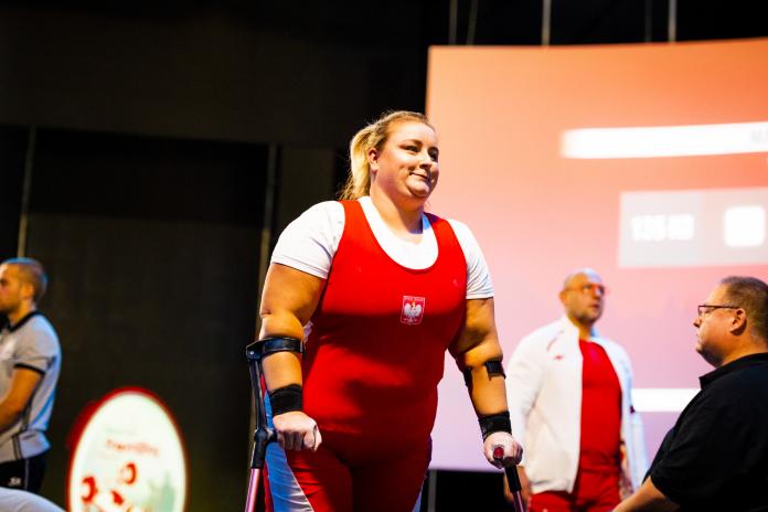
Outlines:
{"type": "Polygon", "coordinates": [[[271,263],[328,278],[344,232],[344,207],[338,201],[311,206],[282,231],[271,263]]]}

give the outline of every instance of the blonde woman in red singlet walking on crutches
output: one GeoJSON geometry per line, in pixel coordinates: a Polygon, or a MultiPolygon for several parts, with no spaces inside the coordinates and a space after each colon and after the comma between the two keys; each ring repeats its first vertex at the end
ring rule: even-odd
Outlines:
{"type": "Polygon", "coordinates": [[[465,373],[486,458],[500,467],[522,456],[484,258],[466,225],[425,213],[439,175],[435,129],[422,114],[386,114],[354,136],[350,159],[342,201],[282,232],[264,287],[259,339],[302,345],[263,360],[276,511],[413,510],[446,350],[465,373]]]}

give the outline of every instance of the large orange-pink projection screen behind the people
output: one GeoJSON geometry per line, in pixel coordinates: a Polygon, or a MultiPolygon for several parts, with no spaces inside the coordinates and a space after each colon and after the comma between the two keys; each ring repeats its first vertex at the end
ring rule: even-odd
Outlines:
{"type": "MultiPolygon", "coordinates": [[[[469,224],[495,287],[505,360],[557,318],[569,270],[609,288],[598,323],[634,367],[649,458],[712,370],[696,305],[768,278],[768,40],[433,47],[435,213],[469,224]]],[[[447,360],[433,467],[491,470],[447,360]]]]}

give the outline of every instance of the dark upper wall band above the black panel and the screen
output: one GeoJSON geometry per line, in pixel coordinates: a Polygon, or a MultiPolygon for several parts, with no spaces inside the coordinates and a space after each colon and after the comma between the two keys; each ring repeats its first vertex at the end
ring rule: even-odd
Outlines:
{"type": "MultiPolygon", "coordinates": [[[[765,35],[676,0],[678,41],[765,35]]],[[[340,148],[423,109],[430,44],[541,44],[542,0],[0,1],[0,124],[340,148]]],[[[552,44],[669,38],[669,0],[552,0],[552,44]]]]}

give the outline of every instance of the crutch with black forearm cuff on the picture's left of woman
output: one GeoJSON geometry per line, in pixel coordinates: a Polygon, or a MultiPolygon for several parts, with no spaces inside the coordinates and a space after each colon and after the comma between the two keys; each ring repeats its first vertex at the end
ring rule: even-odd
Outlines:
{"type": "Polygon", "coordinates": [[[250,369],[250,385],[254,391],[256,404],[256,429],[254,430],[254,451],[250,456],[250,482],[248,483],[248,497],[245,500],[245,512],[256,510],[256,497],[258,482],[264,468],[264,457],[267,445],[277,440],[275,430],[267,427],[267,412],[264,405],[264,392],[262,391],[262,342],[254,341],[245,348],[245,358],[250,369]]]}

